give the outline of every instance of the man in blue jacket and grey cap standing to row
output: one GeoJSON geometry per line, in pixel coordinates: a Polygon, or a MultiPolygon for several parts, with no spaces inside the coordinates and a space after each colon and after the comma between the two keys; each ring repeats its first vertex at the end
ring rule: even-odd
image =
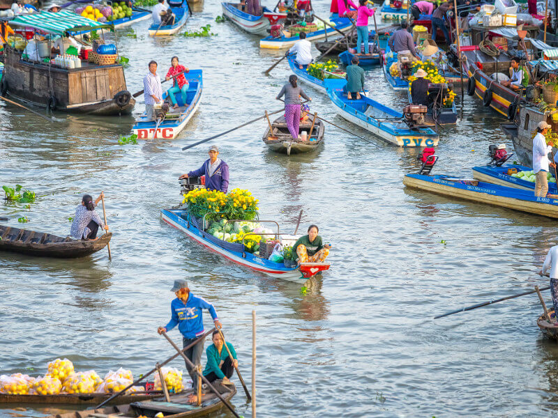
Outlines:
{"type": "MultiPolygon", "coordinates": [[[[203,309],[209,311],[216,328],[222,327],[217,317],[217,311],[213,305],[206,302],[202,297],[193,295],[190,292],[190,288],[188,288],[188,281],[182,279],[175,280],[174,286],[172,286],[170,291],[174,292],[176,299],[172,300],[170,304],[171,318],[169,323],[164,327],[158,327],[157,332],[159,334],[169,332],[178,325],[179,331],[182,334],[182,346],[184,348],[189,346],[196,341],[200,335],[204,334],[203,309]]],[[[199,341],[199,343],[192,348],[188,348],[188,350],[183,353],[190,359],[190,362],[193,362],[194,366],[201,366],[203,351],[204,340],[202,339],[202,341],[199,341]]],[[[194,390],[194,394],[190,395],[188,401],[195,402],[197,401],[197,373],[195,373],[195,369],[190,368],[188,364],[186,364],[186,369],[192,378],[192,388],[194,390]]]]}

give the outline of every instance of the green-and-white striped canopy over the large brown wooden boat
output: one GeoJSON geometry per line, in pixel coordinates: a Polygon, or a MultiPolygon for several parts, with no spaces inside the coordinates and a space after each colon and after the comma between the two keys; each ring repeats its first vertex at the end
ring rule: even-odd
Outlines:
{"type": "Polygon", "coordinates": [[[94,20],[76,15],[70,10],[61,10],[58,13],[42,12],[32,15],[17,16],[10,20],[10,26],[25,26],[48,33],[63,34],[64,32],[86,31],[109,28],[114,30],[112,24],[95,22],[94,20]]]}

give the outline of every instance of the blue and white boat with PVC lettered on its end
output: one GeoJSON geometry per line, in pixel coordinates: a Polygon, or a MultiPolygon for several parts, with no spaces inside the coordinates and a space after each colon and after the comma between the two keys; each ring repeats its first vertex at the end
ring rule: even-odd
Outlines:
{"type": "Polygon", "coordinates": [[[410,129],[403,121],[400,111],[384,106],[375,100],[361,95],[359,100],[348,100],[342,88],[326,80],[327,95],[335,105],[335,110],[342,118],[363,127],[365,130],[385,139],[390,144],[413,146],[437,146],[438,134],[430,129],[410,129]]]}

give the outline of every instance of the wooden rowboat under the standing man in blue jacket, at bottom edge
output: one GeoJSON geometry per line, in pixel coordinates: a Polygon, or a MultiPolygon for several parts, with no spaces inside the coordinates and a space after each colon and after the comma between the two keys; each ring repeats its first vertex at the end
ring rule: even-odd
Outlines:
{"type": "MultiPolygon", "coordinates": [[[[229,393],[223,394],[222,396],[225,398],[225,401],[230,403],[230,400],[236,394],[236,388],[231,387],[229,390],[229,393]]],[[[47,418],[138,418],[142,415],[144,417],[154,417],[158,412],[163,412],[165,417],[190,418],[209,415],[225,407],[223,402],[220,401],[220,399],[213,393],[204,394],[201,405],[193,405],[188,403],[188,396],[190,394],[192,394],[191,391],[171,395],[169,402],[165,401],[165,398],[159,397],[146,401],[122,403],[120,405],[110,406],[107,408],[55,414],[50,415],[47,418]]]]}

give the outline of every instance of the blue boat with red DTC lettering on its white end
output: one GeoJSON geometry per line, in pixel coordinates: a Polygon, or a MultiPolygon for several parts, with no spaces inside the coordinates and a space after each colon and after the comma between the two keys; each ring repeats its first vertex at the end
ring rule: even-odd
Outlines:
{"type": "MultiPolygon", "coordinates": [[[[174,139],[188,125],[201,102],[204,88],[202,70],[190,70],[184,74],[184,77],[189,83],[186,103],[182,102],[182,95],[176,93],[174,98],[180,107],[177,109],[170,107],[159,124],[158,121],[148,121],[144,112],[132,127],[132,132],[137,135],[137,139],[174,139]],[[155,132],[156,129],[157,132],[155,132]]],[[[163,93],[163,100],[165,99],[167,99],[167,92],[163,93]]]]}

